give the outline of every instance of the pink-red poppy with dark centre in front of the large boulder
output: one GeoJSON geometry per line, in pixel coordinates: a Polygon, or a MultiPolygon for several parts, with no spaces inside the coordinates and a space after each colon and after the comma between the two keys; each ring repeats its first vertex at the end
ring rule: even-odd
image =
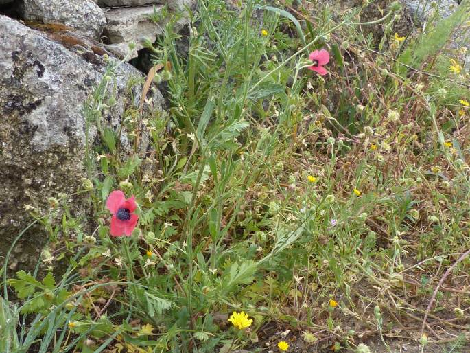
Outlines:
{"type": "Polygon", "coordinates": [[[115,190],[109,195],[106,207],[113,214],[111,217],[111,236],[130,236],[137,225],[137,220],[139,220],[139,216],[132,213],[137,208],[134,195],[126,200],[124,192],[115,190]]]}

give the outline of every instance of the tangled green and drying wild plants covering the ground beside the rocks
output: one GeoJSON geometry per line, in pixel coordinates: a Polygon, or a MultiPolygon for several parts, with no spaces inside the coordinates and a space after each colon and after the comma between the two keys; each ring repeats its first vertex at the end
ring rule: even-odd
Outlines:
{"type": "MultiPolygon", "coordinates": [[[[187,56],[176,49],[178,16],[149,45],[167,112],[129,102],[117,132],[99,109],[116,101],[110,65],[84,107],[101,141],[87,142],[78,190],[89,209],[75,216],[67,195],[32,209],[51,238],[38,266],[47,275],[5,282],[20,301],[0,301],[0,351],[257,351],[295,337],[315,351],[355,350],[366,334],[386,346],[403,326],[419,337],[433,288],[470,244],[470,112],[460,102],[470,92],[465,71],[447,77],[440,50],[466,14],[400,42],[392,12],[368,21],[387,21],[383,38],[363,32],[366,3],[235,11],[200,0],[187,56]],[[331,62],[320,77],[307,53],[323,47],[331,62]],[[132,151],[120,148],[125,133],[132,151]],[[138,203],[130,237],[109,234],[106,198],[117,189],[138,203]],[[59,260],[69,266],[54,278],[59,260]],[[248,330],[227,321],[242,310],[248,330]]],[[[440,327],[451,338],[468,319],[454,306],[470,305],[460,287],[469,266],[454,268],[428,321],[446,339],[440,327]]]]}

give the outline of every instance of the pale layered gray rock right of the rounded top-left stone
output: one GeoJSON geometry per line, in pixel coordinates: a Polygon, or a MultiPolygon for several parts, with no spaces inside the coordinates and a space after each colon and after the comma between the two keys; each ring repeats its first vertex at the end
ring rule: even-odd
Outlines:
{"type": "MultiPolygon", "coordinates": [[[[165,23],[168,18],[162,18],[155,23],[149,16],[155,13],[161,14],[163,5],[141,6],[138,8],[108,8],[105,9],[107,25],[103,35],[110,43],[108,49],[119,57],[125,57],[127,60],[137,57],[137,51],[144,46],[144,38],[154,43],[158,36],[163,34],[165,23]],[[129,43],[134,43],[134,49],[129,49],[129,43]]],[[[187,18],[182,17],[176,23],[176,29],[183,27],[188,23],[187,18]]]]}

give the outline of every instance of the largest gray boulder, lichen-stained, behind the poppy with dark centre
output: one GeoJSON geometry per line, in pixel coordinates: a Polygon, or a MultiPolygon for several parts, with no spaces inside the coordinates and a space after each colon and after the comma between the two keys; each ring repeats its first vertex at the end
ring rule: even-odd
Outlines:
{"type": "MultiPolygon", "coordinates": [[[[30,224],[24,205],[47,209],[47,198],[72,194],[84,172],[86,124],[82,109],[86,98],[105,73],[102,56],[86,49],[82,38],[73,45],[69,34],[56,40],[30,27],[0,16],[0,263],[14,238],[30,224]]],[[[93,45],[91,45],[93,47],[93,45]]],[[[110,58],[109,60],[113,60],[110,58]]],[[[109,62],[109,61],[108,61],[109,62]]],[[[124,64],[110,84],[119,100],[103,109],[102,124],[117,130],[126,107],[139,101],[141,73],[124,64]],[[138,77],[128,99],[128,80],[138,77]],[[109,122],[109,123],[108,123],[109,122]]],[[[156,109],[162,98],[154,96],[156,109]]],[[[106,101],[105,101],[106,102],[106,101]]],[[[161,108],[160,108],[161,109],[161,108]]],[[[89,129],[93,143],[97,133],[89,129]]],[[[121,144],[128,144],[126,132],[121,144]]],[[[73,199],[71,212],[86,214],[86,199],[73,199]]],[[[32,269],[48,238],[43,227],[33,227],[16,247],[10,269],[32,269]]]]}

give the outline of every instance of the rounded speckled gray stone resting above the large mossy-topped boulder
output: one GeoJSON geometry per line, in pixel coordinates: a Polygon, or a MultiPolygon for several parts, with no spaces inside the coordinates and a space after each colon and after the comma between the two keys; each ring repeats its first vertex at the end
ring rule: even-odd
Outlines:
{"type": "Polygon", "coordinates": [[[61,23],[91,38],[99,38],[106,25],[93,0],[23,0],[21,14],[27,21],[61,23]]]}

